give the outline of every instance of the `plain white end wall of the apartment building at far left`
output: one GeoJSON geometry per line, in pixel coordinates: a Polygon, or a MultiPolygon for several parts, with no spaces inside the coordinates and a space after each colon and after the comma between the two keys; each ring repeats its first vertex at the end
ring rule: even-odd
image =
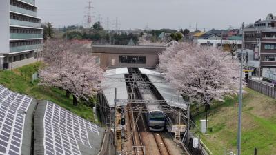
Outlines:
{"type": "Polygon", "coordinates": [[[0,54],[10,52],[10,0],[0,0],[0,54]]]}

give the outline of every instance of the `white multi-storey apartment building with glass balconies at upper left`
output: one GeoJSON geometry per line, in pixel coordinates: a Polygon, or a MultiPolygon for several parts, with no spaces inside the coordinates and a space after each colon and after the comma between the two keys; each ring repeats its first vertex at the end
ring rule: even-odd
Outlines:
{"type": "Polygon", "coordinates": [[[0,1],[0,69],[38,61],[43,28],[35,0],[0,1]]]}

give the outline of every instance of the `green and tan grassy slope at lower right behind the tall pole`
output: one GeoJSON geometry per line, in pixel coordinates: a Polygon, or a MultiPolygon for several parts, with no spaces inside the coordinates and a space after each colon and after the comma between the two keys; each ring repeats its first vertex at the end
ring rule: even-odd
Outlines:
{"type": "MultiPolygon", "coordinates": [[[[257,147],[258,154],[271,155],[276,152],[276,100],[268,96],[245,89],[242,114],[242,154],[254,154],[257,147]]],[[[237,148],[237,96],[226,99],[225,103],[215,102],[210,106],[208,115],[208,136],[201,138],[215,155],[224,154],[225,149],[237,148]]],[[[204,107],[199,111],[192,108],[197,126],[200,119],[205,118],[204,107]]],[[[198,131],[196,134],[200,134],[198,131]]]]}

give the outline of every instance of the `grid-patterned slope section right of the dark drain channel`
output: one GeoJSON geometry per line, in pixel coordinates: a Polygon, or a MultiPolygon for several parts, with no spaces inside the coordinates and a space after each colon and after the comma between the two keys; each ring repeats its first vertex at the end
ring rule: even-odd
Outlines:
{"type": "Polygon", "coordinates": [[[64,110],[50,101],[44,116],[44,152],[53,154],[81,154],[78,143],[92,148],[88,132],[99,135],[97,125],[64,110]]]}

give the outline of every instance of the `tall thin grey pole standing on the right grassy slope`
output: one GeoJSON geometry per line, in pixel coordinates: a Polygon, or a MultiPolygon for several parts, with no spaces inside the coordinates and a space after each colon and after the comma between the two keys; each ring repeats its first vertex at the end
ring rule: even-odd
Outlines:
{"type": "Polygon", "coordinates": [[[237,154],[241,155],[242,148],[242,76],[243,76],[243,65],[244,65],[244,23],[242,23],[242,56],[241,56],[241,70],[239,78],[239,123],[237,132],[237,154]]]}

